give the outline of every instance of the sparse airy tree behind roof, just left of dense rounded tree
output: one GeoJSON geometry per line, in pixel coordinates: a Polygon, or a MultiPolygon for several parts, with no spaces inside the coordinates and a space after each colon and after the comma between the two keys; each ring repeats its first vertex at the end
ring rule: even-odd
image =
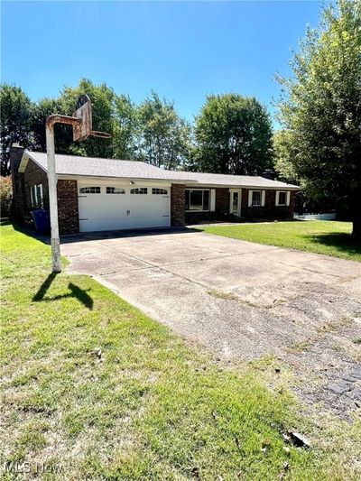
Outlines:
{"type": "Polygon", "coordinates": [[[152,92],[139,106],[139,158],[164,169],[176,169],[190,148],[190,125],[174,105],[152,92]]]}

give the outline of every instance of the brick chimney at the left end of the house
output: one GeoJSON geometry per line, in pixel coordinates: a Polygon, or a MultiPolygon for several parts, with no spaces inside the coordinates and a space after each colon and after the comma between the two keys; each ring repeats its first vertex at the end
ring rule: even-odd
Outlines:
{"type": "Polygon", "coordinates": [[[14,216],[23,221],[25,208],[25,186],[23,174],[20,173],[19,165],[23,158],[24,148],[19,143],[13,143],[9,151],[10,173],[13,181],[13,206],[14,216]]]}

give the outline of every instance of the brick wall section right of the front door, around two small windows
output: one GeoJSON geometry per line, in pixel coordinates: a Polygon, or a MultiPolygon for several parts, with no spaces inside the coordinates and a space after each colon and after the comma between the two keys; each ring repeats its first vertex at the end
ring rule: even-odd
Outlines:
{"type": "Polygon", "coordinates": [[[292,219],[295,192],[291,192],[289,206],[276,206],[276,190],[265,190],[264,207],[248,207],[248,189],[242,189],[241,216],[245,219],[284,220],[292,219]]]}

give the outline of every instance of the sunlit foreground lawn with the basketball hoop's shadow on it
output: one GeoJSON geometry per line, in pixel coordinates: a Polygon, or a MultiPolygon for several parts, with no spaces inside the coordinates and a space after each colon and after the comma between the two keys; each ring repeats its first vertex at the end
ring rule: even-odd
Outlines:
{"type": "Polygon", "coordinates": [[[285,390],[266,387],[268,362],[226,368],[91,278],[49,276],[49,247],[12,225],[1,244],[3,470],[29,462],[45,463],[44,479],[356,479],[339,433],[329,452],[317,440],[284,449],[283,430],[311,439],[314,430],[285,390]]]}

